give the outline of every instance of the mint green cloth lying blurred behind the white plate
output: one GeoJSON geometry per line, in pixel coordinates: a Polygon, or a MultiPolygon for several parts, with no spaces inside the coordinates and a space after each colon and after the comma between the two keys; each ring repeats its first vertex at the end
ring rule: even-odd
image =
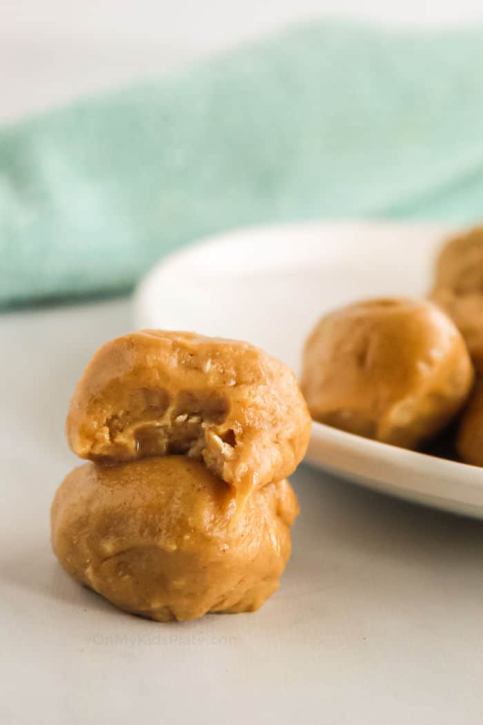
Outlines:
{"type": "Polygon", "coordinates": [[[0,304],[238,225],[482,216],[483,29],[321,22],[3,128],[0,304]]]}

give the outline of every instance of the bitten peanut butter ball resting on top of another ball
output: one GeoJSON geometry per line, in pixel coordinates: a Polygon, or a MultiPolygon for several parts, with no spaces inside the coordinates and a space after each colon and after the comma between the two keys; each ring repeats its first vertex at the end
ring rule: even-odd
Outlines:
{"type": "Polygon", "coordinates": [[[246,342],[144,330],[101,347],[67,416],[101,462],[185,454],[247,494],[293,473],[311,421],[295,375],[246,342]]]}

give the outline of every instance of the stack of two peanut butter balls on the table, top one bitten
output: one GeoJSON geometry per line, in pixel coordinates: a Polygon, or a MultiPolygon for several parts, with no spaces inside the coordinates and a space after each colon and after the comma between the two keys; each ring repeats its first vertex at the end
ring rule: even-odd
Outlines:
{"type": "Polygon", "coordinates": [[[278,587],[311,421],[292,371],[245,342],[140,331],[96,352],[67,416],[90,463],[56,492],[62,566],[158,621],[256,610],[278,587]]]}

